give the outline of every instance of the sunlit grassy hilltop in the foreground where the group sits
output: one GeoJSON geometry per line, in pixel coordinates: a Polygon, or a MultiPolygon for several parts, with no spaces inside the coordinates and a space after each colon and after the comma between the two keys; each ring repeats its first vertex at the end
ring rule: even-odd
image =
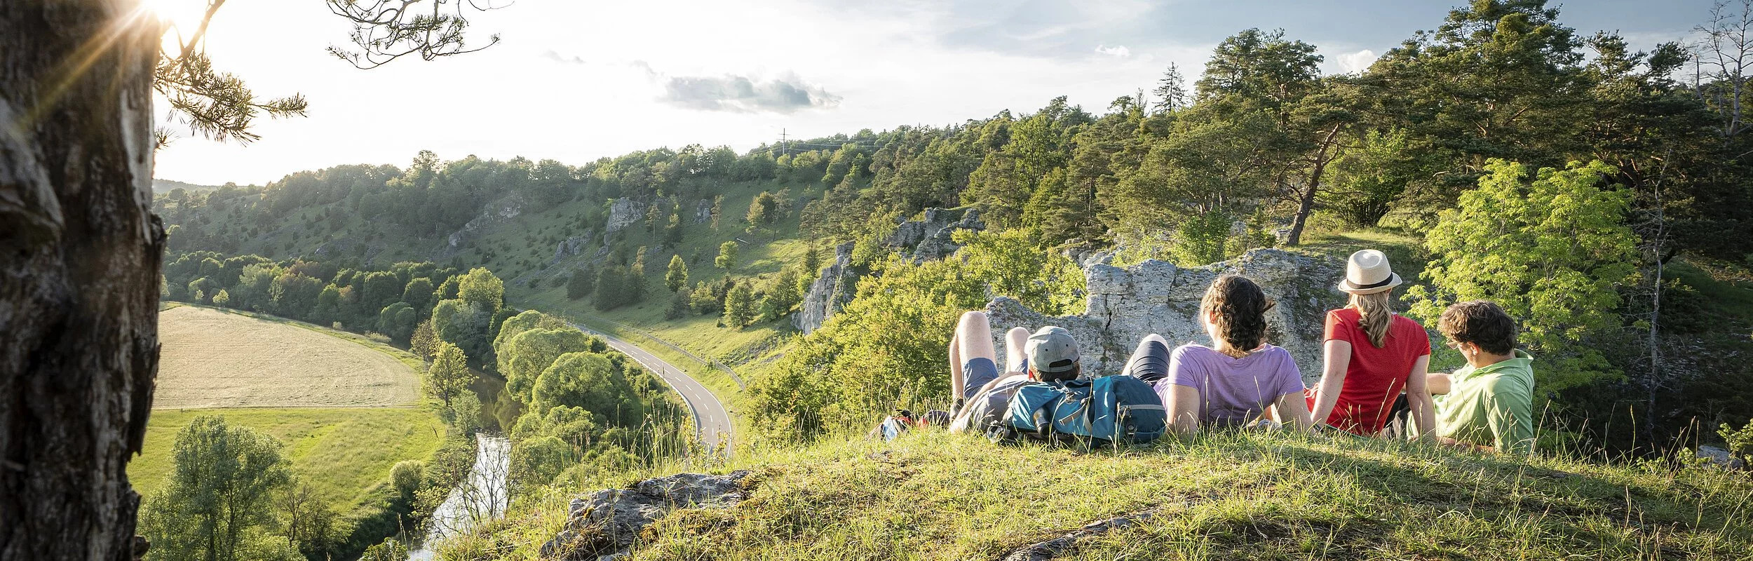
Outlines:
{"type": "MultiPolygon", "coordinates": [[[[1662,463],[1520,461],[1281,433],[1124,451],[996,445],[941,431],[756,451],[733,508],[678,510],[633,559],[997,559],[1083,524],[1150,514],[1068,559],[1746,559],[1753,480],[1662,463]]],[[[624,486],[649,473],[605,475],[624,486]]],[[[452,545],[535,559],[566,489],[452,545]]]]}

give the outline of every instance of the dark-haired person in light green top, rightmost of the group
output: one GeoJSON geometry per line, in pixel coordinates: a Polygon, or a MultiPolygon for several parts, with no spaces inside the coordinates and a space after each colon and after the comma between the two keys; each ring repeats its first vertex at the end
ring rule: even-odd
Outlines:
{"type": "Polygon", "coordinates": [[[1534,358],[1516,349],[1516,323],[1495,303],[1462,302],[1443,310],[1437,331],[1467,358],[1455,373],[1432,373],[1437,442],[1529,454],[1534,451],[1534,358]]]}

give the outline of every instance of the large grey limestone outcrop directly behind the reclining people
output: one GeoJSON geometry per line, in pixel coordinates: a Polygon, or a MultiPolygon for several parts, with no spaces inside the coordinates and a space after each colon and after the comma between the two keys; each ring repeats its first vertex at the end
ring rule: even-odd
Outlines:
{"type": "Polygon", "coordinates": [[[1345,295],[1334,289],[1345,275],[1343,261],[1281,249],[1255,249],[1236,259],[1192,268],[1157,259],[1120,268],[1110,261],[1103,256],[1083,266],[1089,309],[1078,316],[1047,317],[1011,298],[992,300],[987,314],[997,349],[1004,349],[1004,330],[1057,324],[1078,340],[1085,373],[1108,375],[1125,368],[1134,345],[1150,333],[1162,335],[1171,345],[1210,345],[1197,319],[1199,298],[1218,275],[1241,273],[1278,303],[1266,314],[1267,342],[1290,351],[1302,366],[1304,380],[1320,377],[1325,310],[1345,305],[1345,295]]]}

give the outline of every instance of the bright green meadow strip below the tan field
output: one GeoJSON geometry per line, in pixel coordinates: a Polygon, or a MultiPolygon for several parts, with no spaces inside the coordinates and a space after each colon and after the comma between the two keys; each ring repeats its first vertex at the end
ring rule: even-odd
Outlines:
{"type": "Polygon", "coordinates": [[[426,459],[444,444],[444,423],[429,410],[384,408],[191,408],[154,410],[145,426],[145,447],[128,463],[128,479],[140,494],[158,491],[172,468],[177,431],[198,415],[223,415],[286,447],[293,473],[317,487],[338,512],[372,501],[373,489],[389,484],[389,468],[403,459],[426,459]]]}

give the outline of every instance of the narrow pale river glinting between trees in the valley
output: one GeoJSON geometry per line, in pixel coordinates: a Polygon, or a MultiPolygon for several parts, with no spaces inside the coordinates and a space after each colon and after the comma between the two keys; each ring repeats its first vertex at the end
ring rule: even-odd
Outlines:
{"type": "Polygon", "coordinates": [[[421,540],[419,549],[408,550],[408,559],[429,561],[433,559],[431,545],[438,540],[505,515],[505,507],[510,501],[507,487],[510,459],[510,440],[501,435],[477,433],[475,466],[468,470],[463,484],[451,489],[438,510],[433,510],[426,521],[426,538],[421,540]]]}

